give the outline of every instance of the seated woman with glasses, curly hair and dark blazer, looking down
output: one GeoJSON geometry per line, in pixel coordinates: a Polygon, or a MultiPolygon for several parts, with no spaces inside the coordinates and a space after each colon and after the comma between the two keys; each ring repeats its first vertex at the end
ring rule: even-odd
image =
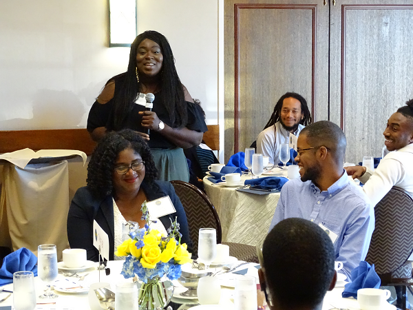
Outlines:
{"type": "MultiPolygon", "coordinates": [[[[149,146],[133,130],[108,133],[94,150],[87,167],[87,186],[77,190],[67,216],[67,237],[71,248],[86,249],[87,260],[98,261],[93,246],[94,220],[109,236],[109,260],[127,237],[133,221],[144,227],[140,207],[169,196],[176,212],[161,216],[151,229],[166,235],[171,220],[180,224],[181,242],[191,251],[187,216],[171,183],[155,180],[156,169],[149,146]]],[[[120,258],[119,258],[120,259],[120,258]]],[[[123,258],[122,258],[123,259],[123,258]]]]}

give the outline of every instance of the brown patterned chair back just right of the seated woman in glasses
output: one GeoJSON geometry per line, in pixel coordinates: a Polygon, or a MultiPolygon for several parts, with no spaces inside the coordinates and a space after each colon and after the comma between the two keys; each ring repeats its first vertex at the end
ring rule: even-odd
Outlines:
{"type": "Polygon", "coordinates": [[[187,214],[189,236],[193,242],[193,255],[198,257],[198,238],[200,228],[215,228],[217,243],[221,243],[222,231],[220,218],[211,200],[198,187],[181,180],[171,181],[176,195],[187,214]]]}

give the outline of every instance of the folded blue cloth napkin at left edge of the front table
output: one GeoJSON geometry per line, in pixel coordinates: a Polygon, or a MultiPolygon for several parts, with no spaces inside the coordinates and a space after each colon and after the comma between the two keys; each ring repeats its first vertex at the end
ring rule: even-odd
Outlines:
{"type": "Polygon", "coordinates": [[[37,276],[37,258],[25,247],[12,252],[3,259],[0,269],[0,286],[13,282],[13,273],[17,271],[32,271],[37,276]]]}

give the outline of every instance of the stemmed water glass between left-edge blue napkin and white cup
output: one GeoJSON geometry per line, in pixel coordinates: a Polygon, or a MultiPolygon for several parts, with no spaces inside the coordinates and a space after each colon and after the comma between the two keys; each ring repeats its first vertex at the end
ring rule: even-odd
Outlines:
{"type": "Polygon", "coordinates": [[[39,245],[37,247],[37,274],[47,285],[47,291],[39,298],[57,298],[50,289],[50,283],[57,278],[57,254],[56,245],[39,245]]]}

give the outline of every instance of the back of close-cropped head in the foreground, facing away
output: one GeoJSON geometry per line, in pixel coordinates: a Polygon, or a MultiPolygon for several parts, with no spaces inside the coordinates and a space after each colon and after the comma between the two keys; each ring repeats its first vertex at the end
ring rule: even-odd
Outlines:
{"type": "Polygon", "coordinates": [[[335,284],[332,242],[309,220],[279,222],[266,236],[262,254],[271,300],[280,309],[315,308],[335,284]]]}

